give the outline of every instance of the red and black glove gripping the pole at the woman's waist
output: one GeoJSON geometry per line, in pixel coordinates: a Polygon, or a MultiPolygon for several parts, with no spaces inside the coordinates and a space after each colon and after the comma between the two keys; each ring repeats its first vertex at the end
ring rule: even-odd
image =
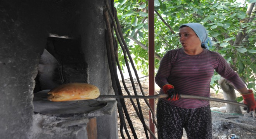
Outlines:
{"type": "Polygon", "coordinates": [[[169,97],[167,97],[166,99],[173,100],[173,101],[180,99],[180,92],[178,92],[177,90],[174,90],[173,85],[169,85],[169,84],[164,85],[163,90],[164,90],[164,93],[169,95],[169,97]]]}

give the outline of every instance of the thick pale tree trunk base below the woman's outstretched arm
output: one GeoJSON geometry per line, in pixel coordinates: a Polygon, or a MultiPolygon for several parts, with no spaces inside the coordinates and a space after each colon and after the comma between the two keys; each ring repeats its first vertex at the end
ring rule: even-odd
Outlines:
{"type": "MultiPolygon", "coordinates": [[[[227,80],[225,80],[225,78],[221,77],[220,80],[218,80],[218,83],[221,89],[223,90],[224,100],[234,101],[237,98],[237,96],[235,95],[235,89],[233,88],[232,85],[228,83],[227,80]]],[[[240,106],[232,105],[228,103],[225,103],[225,105],[226,105],[226,112],[230,114],[242,114],[240,106]]]]}

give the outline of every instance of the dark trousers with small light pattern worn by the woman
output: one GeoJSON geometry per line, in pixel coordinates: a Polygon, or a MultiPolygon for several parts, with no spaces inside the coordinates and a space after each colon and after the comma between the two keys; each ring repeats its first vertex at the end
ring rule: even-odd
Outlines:
{"type": "Polygon", "coordinates": [[[159,99],[157,103],[158,139],[181,139],[183,128],[188,139],[212,139],[210,106],[180,108],[159,99]]]}

